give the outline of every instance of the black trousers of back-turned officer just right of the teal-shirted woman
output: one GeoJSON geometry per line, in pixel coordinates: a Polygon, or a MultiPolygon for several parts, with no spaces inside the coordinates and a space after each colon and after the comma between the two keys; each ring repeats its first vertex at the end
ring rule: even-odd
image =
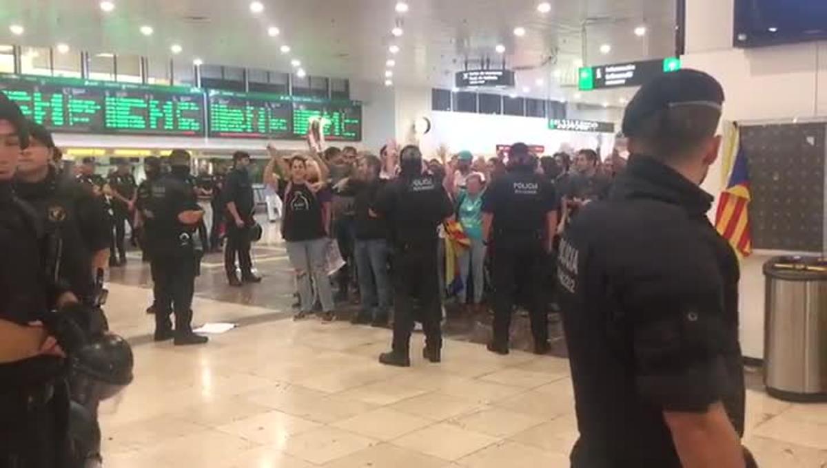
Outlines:
{"type": "Polygon", "coordinates": [[[547,254],[539,234],[495,235],[492,259],[495,344],[508,346],[514,294],[518,290],[525,295],[520,302],[528,305],[534,343],[548,341],[548,316],[542,292],[546,265],[547,254]]]}

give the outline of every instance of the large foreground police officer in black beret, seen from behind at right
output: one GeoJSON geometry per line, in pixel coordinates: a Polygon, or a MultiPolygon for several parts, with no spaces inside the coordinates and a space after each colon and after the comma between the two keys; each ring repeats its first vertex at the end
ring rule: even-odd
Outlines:
{"type": "Polygon", "coordinates": [[[695,70],[643,86],[624,116],[627,170],[563,234],[574,467],[744,466],[739,266],[698,187],[723,102],[695,70]]]}

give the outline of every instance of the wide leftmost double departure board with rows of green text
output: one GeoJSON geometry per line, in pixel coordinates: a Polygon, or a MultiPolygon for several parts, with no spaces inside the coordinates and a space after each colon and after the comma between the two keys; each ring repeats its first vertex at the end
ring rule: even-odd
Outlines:
{"type": "Polygon", "coordinates": [[[0,74],[0,91],[56,132],[204,135],[203,92],[186,87],[0,74]]]}

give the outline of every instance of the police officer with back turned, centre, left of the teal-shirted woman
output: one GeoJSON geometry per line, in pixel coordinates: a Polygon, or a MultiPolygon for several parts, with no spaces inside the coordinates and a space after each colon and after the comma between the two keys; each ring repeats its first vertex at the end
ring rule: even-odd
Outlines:
{"type": "Polygon", "coordinates": [[[385,218],[394,248],[394,340],[391,352],[379,357],[390,366],[410,366],[409,342],[414,329],[414,300],[422,311],[423,356],[440,362],[442,308],[437,279],[437,226],[453,213],[442,183],[423,173],[416,146],[402,149],[402,172],[376,199],[374,212],[385,218]]]}

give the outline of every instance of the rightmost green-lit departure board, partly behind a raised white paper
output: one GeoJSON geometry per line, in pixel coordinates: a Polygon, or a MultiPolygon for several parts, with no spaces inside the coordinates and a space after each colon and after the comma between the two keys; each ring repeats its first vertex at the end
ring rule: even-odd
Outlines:
{"type": "Polygon", "coordinates": [[[330,140],[361,140],[361,106],[353,103],[294,102],[293,134],[308,133],[310,121],[321,118],[324,138],[330,140]]]}

